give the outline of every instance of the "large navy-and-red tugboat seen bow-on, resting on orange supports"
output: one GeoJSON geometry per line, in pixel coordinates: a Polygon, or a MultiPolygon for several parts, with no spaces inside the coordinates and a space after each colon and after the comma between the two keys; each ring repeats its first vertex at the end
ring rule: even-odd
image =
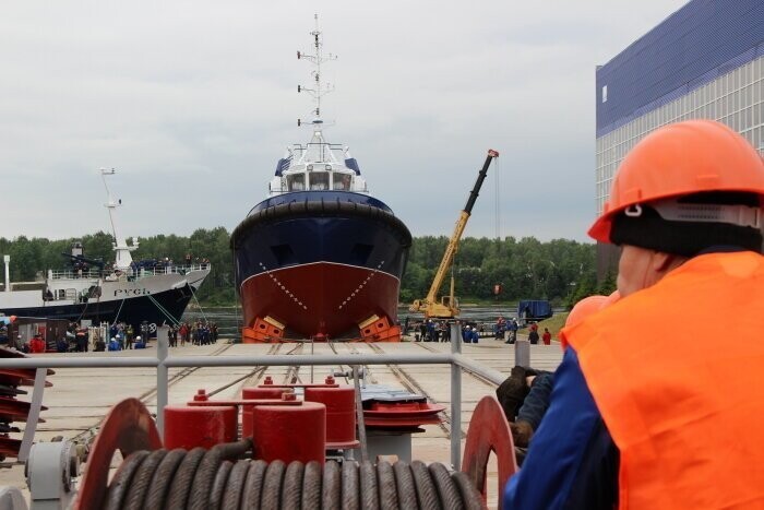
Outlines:
{"type": "MultiPolygon", "coordinates": [[[[347,147],[326,142],[321,119],[321,32],[314,84],[298,92],[315,100],[312,138],[278,161],[268,198],[231,234],[243,342],[288,339],[399,341],[398,292],[411,235],[371,197],[347,147]]],[[[301,122],[298,121],[298,124],[301,122]]]]}

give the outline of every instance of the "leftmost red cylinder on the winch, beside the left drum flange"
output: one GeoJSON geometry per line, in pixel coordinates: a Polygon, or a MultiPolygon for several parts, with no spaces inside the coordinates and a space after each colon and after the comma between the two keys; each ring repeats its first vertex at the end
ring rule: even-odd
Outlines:
{"type": "Polygon", "coordinates": [[[236,441],[237,408],[230,405],[165,407],[165,448],[195,447],[207,450],[222,442],[236,441]]]}

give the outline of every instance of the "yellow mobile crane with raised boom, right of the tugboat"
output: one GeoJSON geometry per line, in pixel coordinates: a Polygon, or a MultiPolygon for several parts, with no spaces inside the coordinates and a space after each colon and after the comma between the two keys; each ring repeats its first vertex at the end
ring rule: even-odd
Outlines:
{"type": "Polygon", "coordinates": [[[435,277],[432,280],[432,285],[430,285],[430,292],[427,293],[425,299],[416,299],[410,307],[409,311],[413,312],[423,312],[425,318],[438,318],[438,319],[453,319],[458,316],[458,300],[454,297],[454,275],[451,275],[451,292],[447,296],[442,296],[440,303],[437,300],[438,290],[440,290],[443,284],[443,278],[445,277],[446,271],[451,269],[454,262],[454,256],[456,250],[458,250],[458,241],[462,238],[464,228],[467,226],[467,220],[473,212],[473,206],[475,201],[480,193],[480,187],[482,181],[486,180],[486,175],[488,174],[488,167],[494,157],[499,157],[499,153],[492,149],[488,151],[488,157],[486,157],[486,163],[484,163],[480,173],[478,174],[477,181],[475,181],[475,187],[469,192],[469,198],[467,199],[467,205],[459,214],[459,218],[456,222],[454,233],[449,239],[449,246],[445,247],[445,253],[443,253],[443,260],[440,261],[440,266],[438,266],[438,272],[435,272],[435,277]]]}

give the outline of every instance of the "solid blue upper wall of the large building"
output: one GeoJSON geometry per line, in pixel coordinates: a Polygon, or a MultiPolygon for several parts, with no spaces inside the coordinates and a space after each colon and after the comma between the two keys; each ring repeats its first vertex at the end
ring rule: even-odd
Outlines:
{"type": "Polygon", "coordinates": [[[597,138],[762,55],[763,0],[689,2],[597,69],[597,138]]]}

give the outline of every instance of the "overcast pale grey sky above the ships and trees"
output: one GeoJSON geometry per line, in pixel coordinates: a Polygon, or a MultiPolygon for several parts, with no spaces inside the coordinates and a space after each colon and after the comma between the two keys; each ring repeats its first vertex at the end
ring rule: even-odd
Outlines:
{"type": "Polygon", "coordinates": [[[338,56],[322,109],[373,195],[415,236],[450,235],[488,149],[466,236],[587,239],[595,67],[684,0],[4,2],[0,237],[231,230],[310,132],[319,13],[338,56]],[[498,185],[497,185],[498,183],[498,185]]]}

